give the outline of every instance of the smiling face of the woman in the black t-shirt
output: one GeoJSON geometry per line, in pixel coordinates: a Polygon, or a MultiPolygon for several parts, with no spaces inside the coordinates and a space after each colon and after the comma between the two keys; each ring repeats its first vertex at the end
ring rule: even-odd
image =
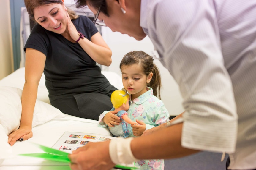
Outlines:
{"type": "Polygon", "coordinates": [[[34,9],[34,18],[46,30],[62,34],[67,29],[66,11],[62,4],[42,5],[34,9]]]}

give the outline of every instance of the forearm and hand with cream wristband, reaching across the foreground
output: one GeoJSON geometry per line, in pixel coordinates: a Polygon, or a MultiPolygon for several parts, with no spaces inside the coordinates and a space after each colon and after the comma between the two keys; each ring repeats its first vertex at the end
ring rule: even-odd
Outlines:
{"type": "Polygon", "coordinates": [[[130,144],[126,142],[131,139],[129,137],[126,139],[117,138],[116,140],[111,140],[114,147],[110,147],[110,141],[89,143],[86,146],[74,150],[72,154],[69,154],[69,159],[72,162],[70,167],[71,169],[79,169],[78,167],[80,167],[80,169],[84,170],[111,169],[115,163],[112,162],[110,153],[112,153],[112,158],[117,155],[116,153],[120,153],[119,157],[121,158],[117,158],[114,161],[131,160],[131,153],[138,160],[179,158],[197,153],[197,150],[187,149],[181,146],[182,126],[183,123],[175,124],[160,129],[158,132],[148,136],[135,137],[130,144]],[[129,152],[129,145],[131,147],[131,153],[129,152]],[[91,155],[91,153],[102,154],[91,155]]]}

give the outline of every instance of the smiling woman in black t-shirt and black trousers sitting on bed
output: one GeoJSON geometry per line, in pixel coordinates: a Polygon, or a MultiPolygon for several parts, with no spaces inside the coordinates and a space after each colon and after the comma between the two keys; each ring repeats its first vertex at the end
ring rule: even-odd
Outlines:
{"type": "Polygon", "coordinates": [[[112,51],[93,22],[77,16],[61,0],[25,0],[29,16],[37,23],[24,50],[25,84],[20,127],[8,142],[32,137],[32,119],[42,73],[50,102],[63,113],[98,120],[113,106],[113,87],[96,63],[109,66],[112,51]]]}

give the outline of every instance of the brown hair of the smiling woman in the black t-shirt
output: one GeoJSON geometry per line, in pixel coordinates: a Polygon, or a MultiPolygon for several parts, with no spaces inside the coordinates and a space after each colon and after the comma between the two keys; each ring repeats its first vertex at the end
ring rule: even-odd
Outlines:
{"type": "MultiPolygon", "coordinates": [[[[48,5],[48,4],[53,4],[53,3],[57,3],[57,4],[63,4],[62,0],[24,0],[27,12],[29,13],[29,16],[31,19],[33,19],[35,21],[34,18],[34,9],[42,6],[42,5],[48,5]]],[[[67,8],[67,12],[71,18],[71,20],[75,20],[78,18],[78,15],[76,15],[75,11],[68,9],[67,8]]]]}

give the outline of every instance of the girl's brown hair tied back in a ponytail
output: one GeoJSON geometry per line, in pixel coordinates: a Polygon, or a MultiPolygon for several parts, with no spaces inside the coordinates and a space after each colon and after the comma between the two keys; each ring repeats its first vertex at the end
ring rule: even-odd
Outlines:
{"type": "Polygon", "coordinates": [[[149,73],[153,73],[151,81],[148,83],[148,87],[151,87],[153,89],[153,93],[155,96],[159,96],[159,99],[161,99],[160,96],[160,89],[161,89],[161,77],[160,72],[157,66],[154,64],[154,59],[152,56],[148,55],[147,53],[143,51],[131,51],[124,55],[121,63],[120,63],[120,69],[121,66],[129,66],[132,64],[140,64],[142,67],[143,72],[146,76],[149,75],[149,73]]]}

